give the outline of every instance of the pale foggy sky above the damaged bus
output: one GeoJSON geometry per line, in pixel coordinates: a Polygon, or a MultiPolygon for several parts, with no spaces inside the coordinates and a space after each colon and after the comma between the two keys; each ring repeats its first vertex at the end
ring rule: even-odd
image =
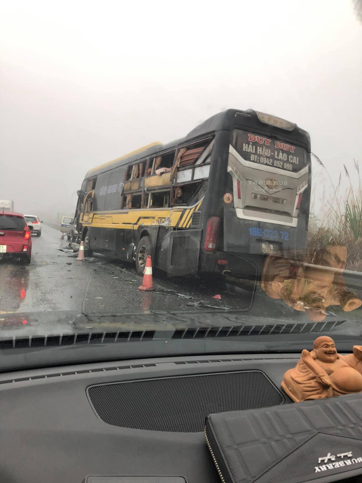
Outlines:
{"type": "Polygon", "coordinates": [[[73,214],[86,171],[227,108],[296,122],[337,180],[362,161],[361,39],[348,0],[1,1],[0,198],[73,214]]]}

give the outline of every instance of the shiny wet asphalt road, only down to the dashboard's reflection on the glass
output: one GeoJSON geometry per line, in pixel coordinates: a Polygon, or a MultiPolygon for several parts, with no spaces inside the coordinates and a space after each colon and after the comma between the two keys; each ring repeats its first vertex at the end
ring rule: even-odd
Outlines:
{"type": "Polygon", "coordinates": [[[67,250],[69,241],[43,225],[42,236],[32,236],[29,266],[17,260],[0,261],[0,314],[70,311],[126,314],[147,311],[248,310],[252,293],[242,289],[230,295],[219,285],[198,278],[168,278],[153,273],[154,291],[142,284],[132,264],[97,255],[77,261],[67,250]],[[221,293],[219,293],[221,292],[221,293]],[[220,296],[214,298],[214,296],[220,296]]]}

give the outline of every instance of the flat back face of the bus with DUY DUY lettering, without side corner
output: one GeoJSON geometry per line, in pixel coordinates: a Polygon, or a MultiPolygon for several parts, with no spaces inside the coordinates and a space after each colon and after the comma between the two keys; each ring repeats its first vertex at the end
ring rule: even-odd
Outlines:
{"type": "Polygon", "coordinates": [[[223,198],[223,249],[303,258],[310,204],[310,141],[283,119],[236,115],[223,198]]]}

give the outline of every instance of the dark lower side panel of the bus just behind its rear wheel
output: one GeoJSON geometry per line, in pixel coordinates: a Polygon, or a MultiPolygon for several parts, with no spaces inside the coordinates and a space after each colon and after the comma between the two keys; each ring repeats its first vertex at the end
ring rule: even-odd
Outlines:
{"type": "Polygon", "coordinates": [[[201,229],[175,230],[170,233],[168,275],[187,275],[197,272],[201,234],[201,229]]]}

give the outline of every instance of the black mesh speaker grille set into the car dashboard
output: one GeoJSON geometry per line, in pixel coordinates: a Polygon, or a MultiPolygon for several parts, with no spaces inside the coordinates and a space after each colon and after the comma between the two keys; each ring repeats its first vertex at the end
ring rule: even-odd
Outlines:
{"type": "Polygon", "coordinates": [[[261,371],[100,384],[87,389],[100,419],[153,431],[202,431],[210,413],[275,406],[284,397],[261,371]]]}

